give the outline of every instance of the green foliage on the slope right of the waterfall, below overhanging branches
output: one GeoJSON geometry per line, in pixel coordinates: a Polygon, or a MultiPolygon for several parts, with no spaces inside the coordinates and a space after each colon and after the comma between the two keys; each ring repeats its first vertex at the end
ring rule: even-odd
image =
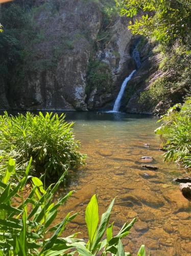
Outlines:
{"type": "Polygon", "coordinates": [[[139,98],[139,102],[148,109],[154,108],[160,101],[172,105],[182,102],[183,97],[190,96],[191,92],[191,54],[179,45],[171,49],[160,46],[159,49],[164,52],[159,64],[163,76],[151,83],[149,90],[142,92],[139,98]]]}

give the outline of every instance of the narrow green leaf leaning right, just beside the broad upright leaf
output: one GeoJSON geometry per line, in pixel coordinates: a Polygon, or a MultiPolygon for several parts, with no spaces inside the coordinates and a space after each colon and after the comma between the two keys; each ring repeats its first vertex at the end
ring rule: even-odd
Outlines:
{"type": "Polygon", "coordinates": [[[115,199],[112,200],[107,211],[102,215],[101,222],[100,222],[100,225],[97,230],[96,238],[93,241],[93,245],[91,247],[92,250],[96,249],[96,247],[98,246],[98,243],[101,241],[101,239],[106,231],[114,201],[115,201],[115,199]]]}

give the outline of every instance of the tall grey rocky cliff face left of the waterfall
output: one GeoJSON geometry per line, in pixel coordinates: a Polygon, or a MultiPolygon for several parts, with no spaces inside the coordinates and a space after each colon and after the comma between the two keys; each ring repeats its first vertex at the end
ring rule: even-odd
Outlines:
{"type": "Polygon", "coordinates": [[[1,82],[1,108],[110,109],[134,69],[127,19],[114,14],[105,25],[102,3],[93,0],[33,2],[35,35],[20,36],[25,54],[1,82]]]}

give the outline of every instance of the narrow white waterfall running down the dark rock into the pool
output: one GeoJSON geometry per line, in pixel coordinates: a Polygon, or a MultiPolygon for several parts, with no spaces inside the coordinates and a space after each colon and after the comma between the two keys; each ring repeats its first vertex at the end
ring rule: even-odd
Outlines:
{"type": "MultiPolygon", "coordinates": [[[[137,69],[140,67],[140,56],[139,56],[139,52],[137,50],[137,48],[135,47],[134,50],[133,50],[133,53],[132,53],[132,56],[135,60],[135,63],[136,63],[136,67],[137,69]]],[[[121,90],[120,92],[118,93],[118,96],[115,100],[115,103],[114,103],[114,106],[113,106],[113,110],[112,111],[109,111],[109,112],[118,112],[120,111],[120,106],[121,106],[121,100],[122,100],[122,97],[124,95],[124,92],[125,92],[125,89],[126,89],[126,86],[127,86],[127,83],[128,81],[131,79],[131,77],[133,76],[133,74],[135,73],[136,70],[133,70],[131,72],[131,74],[126,77],[126,79],[123,81],[122,83],[122,87],[121,87],[121,90]]]]}

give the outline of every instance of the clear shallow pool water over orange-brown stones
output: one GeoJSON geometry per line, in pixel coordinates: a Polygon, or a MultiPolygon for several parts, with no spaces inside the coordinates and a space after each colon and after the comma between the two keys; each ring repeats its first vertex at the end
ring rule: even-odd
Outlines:
{"type": "MultiPolygon", "coordinates": [[[[159,139],[154,130],[156,118],[120,113],[67,113],[75,121],[76,138],[87,165],[71,175],[68,189],[76,193],[59,214],[81,214],[68,225],[65,234],[81,232],[87,238],[85,207],[93,194],[99,195],[102,214],[116,197],[111,221],[117,232],[126,221],[138,216],[129,236],[123,240],[126,250],[135,255],[145,244],[151,255],[191,255],[191,205],[172,180],[185,174],[175,164],[162,161],[159,139]],[[150,147],[144,146],[149,143],[150,147]],[[159,169],[141,168],[140,157],[152,156],[159,169]]],[[[62,191],[60,191],[62,193],[62,191]]]]}

